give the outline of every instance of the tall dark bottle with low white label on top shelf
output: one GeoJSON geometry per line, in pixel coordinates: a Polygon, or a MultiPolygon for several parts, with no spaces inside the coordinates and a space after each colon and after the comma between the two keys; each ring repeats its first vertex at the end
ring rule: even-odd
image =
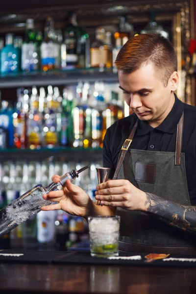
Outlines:
{"type": "Polygon", "coordinates": [[[80,28],[76,22],[76,13],[74,11],[68,14],[68,25],[65,28],[64,38],[67,52],[67,67],[76,68],[78,67],[78,38],[80,37],[80,28]]]}

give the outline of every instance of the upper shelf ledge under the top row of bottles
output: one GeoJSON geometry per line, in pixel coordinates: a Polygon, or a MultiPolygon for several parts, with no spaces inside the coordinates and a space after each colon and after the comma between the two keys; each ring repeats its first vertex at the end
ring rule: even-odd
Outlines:
{"type": "Polygon", "coordinates": [[[30,87],[33,85],[71,85],[76,84],[78,80],[90,83],[96,80],[116,83],[118,82],[118,74],[115,68],[81,68],[49,72],[9,73],[0,76],[0,88],[30,87]]]}

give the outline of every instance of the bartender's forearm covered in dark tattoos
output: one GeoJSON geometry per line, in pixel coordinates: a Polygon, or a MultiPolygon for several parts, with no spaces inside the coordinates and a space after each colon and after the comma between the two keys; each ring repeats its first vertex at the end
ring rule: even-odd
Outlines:
{"type": "Polygon", "coordinates": [[[147,212],[181,230],[196,234],[196,206],[184,206],[146,193],[147,212]]]}

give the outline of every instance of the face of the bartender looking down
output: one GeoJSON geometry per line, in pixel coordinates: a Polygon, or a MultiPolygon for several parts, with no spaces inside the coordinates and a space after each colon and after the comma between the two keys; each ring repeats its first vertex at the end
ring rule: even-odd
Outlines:
{"type": "Polygon", "coordinates": [[[133,73],[119,71],[119,82],[126,103],[141,121],[156,127],[171,111],[172,82],[165,87],[152,64],[145,64],[133,73]]]}

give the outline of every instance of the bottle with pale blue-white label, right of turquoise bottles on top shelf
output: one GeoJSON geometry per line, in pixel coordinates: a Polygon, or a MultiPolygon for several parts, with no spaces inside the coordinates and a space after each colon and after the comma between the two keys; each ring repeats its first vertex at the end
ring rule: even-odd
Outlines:
{"type": "Polygon", "coordinates": [[[33,19],[26,20],[25,40],[22,45],[22,65],[24,72],[33,72],[39,69],[39,52],[33,19]]]}

